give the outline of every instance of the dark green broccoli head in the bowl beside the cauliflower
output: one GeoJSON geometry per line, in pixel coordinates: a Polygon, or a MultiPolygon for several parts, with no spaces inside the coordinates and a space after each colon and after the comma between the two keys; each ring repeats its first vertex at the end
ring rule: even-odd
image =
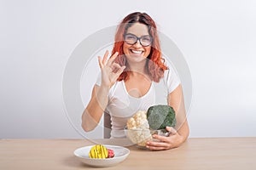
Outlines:
{"type": "Polygon", "coordinates": [[[175,111],[170,105],[153,105],[148,108],[147,119],[150,129],[158,130],[175,127],[175,111]]]}

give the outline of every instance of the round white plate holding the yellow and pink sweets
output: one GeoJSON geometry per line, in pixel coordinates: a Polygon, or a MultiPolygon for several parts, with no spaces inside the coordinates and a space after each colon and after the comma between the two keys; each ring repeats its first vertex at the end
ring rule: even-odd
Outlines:
{"type": "Polygon", "coordinates": [[[79,158],[80,161],[83,161],[85,164],[92,167],[111,167],[118,164],[121,161],[124,161],[127,156],[130,154],[130,150],[122,146],[116,145],[107,145],[103,144],[106,148],[113,150],[113,158],[107,159],[93,159],[89,157],[90,148],[94,145],[85,146],[74,150],[73,154],[79,158]]]}

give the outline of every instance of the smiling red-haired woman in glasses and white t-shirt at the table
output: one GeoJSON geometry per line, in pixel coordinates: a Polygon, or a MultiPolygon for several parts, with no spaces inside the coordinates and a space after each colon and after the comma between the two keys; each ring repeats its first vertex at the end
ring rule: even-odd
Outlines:
{"type": "MultiPolygon", "coordinates": [[[[129,117],[137,111],[147,111],[162,99],[176,112],[177,126],[166,127],[168,137],[154,135],[160,142],[148,141],[150,150],[168,150],[189,136],[189,126],[183,103],[183,90],[175,72],[166,66],[161,57],[160,42],[154,20],[145,13],[132,13],[118,26],[112,56],[108,51],[98,57],[101,78],[93,88],[89,104],[82,116],[84,131],[93,130],[108,112],[112,120],[112,138],[125,137],[122,129],[129,117]],[[165,94],[154,92],[164,82],[165,94]],[[158,94],[158,97],[155,97],[158,94]]],[[[161,103],[163,104],[163,103],[161,103]]]]}

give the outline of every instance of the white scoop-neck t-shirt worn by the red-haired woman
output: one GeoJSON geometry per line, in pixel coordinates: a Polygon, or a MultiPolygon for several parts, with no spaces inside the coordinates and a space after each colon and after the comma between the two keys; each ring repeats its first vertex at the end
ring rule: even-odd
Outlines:
{"type": "MultiPolygon", "coordinates": [[[[168,105],[167,97],[180,84],[176,72],[169,66],[160,82],[152,82],[148,93],[141,98],[135,98],[128,94],[125,82],[115,82],[108,94],[108,106],[106,112],[111,116],[111,138],[125,138],[124,127],[127,119],[137,111],[148,111],[152,105],[168,105]]],[[[96,85],[101,85],[98,77],[96,85]]]]}

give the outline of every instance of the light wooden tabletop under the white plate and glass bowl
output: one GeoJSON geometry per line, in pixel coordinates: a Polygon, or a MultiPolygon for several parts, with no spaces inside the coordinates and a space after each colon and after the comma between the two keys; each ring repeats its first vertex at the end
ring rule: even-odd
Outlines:
{"type": "MultiPolygon", "coordinates": [[[[90,144],[86,139],[0,139],[0,169],[96,169],[73,156],[74,150],[90,144]]],[[[256,169],[256,138],[188,139],[164,151],[128,148],[125,161],[103,169],[256,169]]]]}

